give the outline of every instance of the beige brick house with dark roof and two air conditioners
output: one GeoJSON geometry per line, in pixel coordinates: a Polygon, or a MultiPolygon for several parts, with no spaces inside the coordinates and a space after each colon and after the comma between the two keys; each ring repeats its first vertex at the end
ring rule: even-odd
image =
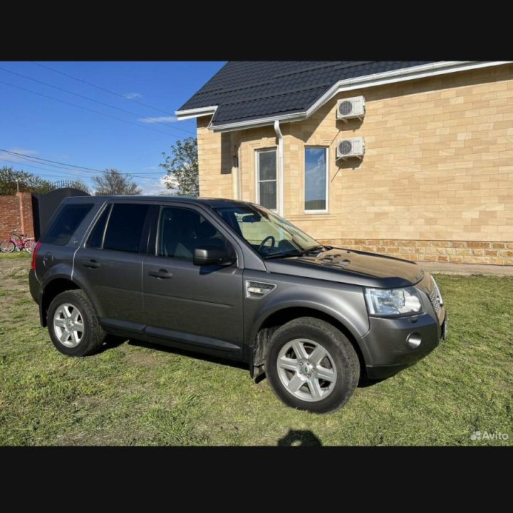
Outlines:
{"type": "Polygon", "coordinates": [[[513,264],[513,63],[229,62],[176,114],[202,196],[327,244],[513,264]]]}

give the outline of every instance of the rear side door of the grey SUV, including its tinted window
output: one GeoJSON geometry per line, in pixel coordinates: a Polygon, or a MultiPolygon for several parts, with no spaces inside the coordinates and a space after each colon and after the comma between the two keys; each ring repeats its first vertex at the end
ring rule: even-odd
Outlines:
{"type": "Polygon", "coordinates": [[[120,334],[144,329],[141,274],[149,210],[144,202],[107,204],[75,257],[74,273],[100,322],[120,334]]]}

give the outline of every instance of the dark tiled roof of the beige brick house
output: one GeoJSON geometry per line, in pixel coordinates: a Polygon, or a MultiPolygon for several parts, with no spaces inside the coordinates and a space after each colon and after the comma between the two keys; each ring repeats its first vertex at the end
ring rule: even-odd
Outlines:
{"type": "Polygon", "coordinates": [[[341,80],[426,61],[232,61],[179,110],[218,105],[213,126],[307,110],[341,80]]]}

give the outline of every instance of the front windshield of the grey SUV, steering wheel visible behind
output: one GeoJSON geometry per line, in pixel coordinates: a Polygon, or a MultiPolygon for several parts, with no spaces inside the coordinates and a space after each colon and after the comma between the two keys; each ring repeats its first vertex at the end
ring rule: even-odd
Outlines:
{"type": "Polygon", "coordinates": [[[324,249],[294,224],[257,205],[217,207],[222,217],[262,257],[275,258],[324,249]]]}

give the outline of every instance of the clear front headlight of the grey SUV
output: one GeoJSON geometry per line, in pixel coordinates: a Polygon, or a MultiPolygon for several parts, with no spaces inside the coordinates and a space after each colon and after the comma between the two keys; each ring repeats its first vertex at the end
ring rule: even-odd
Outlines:
{"type": "Polygon", "coordinates": [[[375,316],[413,315],[422,311],[420,294],[415,287],[404,289],[366,289],[369,312],[375,316]]]}

